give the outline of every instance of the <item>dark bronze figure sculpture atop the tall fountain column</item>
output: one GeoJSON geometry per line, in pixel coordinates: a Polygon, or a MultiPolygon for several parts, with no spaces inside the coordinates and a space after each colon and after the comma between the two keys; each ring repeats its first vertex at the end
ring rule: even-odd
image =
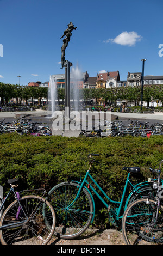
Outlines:
{"type": "MultiPolygon", "coordinates": [[[[62,68],[64,68],[64,66],[65,66],[65,62],[66,62],[66,60],[65,60],[65,50],[66,50],[66,47],[68,46],[68,42],[70,41],[70,37],[71,37],[71,35],[72,35],[72,31],[75,29],[77,29],[77,27],[74,27],[73,26],[73,23],[72,22],[70,22],[68,25],[68,28],[64,31],[64,34],[61,36],[61,38],[63,38],[64,36],[66,36],[65,38],[64,38],[64,40],[63,40],[63,45],[62,45],[62,47],[61,47],[61,65],[62,65],[62,67],[61,67],[61,69],[62,68]]],[[[60,39],[61,39],[60,38],[60,39]]]]}

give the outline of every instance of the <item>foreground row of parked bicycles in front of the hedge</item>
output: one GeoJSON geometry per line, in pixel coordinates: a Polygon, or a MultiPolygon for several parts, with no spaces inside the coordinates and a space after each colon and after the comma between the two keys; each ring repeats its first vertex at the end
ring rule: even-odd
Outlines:
{"type": "Polygon", "coordinates": [[[122,198],[117,201],[106,194],[90,174],[93,164],[99,163],[95,156],[99,154],[88,155],[89,169],[83,180],[62,182],[48,193],[43,189],[42,196],[37,196],[41,189],[15,192],[19,180],[8,180],[10,191],[5,199],[0,198],[1,243],[47,245],[53,243],[53,235],[76,239],[96,217],[94,197],[97,196],[108,211],[111,225],[122,230],[127,245],[163,244],[163,180],[160,178],[163,160],[158,169],[149,168],[152,178],[139,184],[133,184],[132,176],[138,175],[140,168],[123,167],[128,174],[122,198]],[[14,193],[15,201],[4,210],[10,193],[14,193]]]}

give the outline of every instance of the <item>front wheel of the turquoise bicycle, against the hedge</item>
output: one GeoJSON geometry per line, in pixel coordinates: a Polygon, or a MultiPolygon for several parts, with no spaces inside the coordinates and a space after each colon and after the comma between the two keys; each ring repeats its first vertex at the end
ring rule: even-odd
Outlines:
{"type": "Polygon", "coordinates": [[[73,182],[60,183],[49,191],[48,200],[56,215],[54,235],[62,239],[78,237],[91,223],[93,203],[90,194],[83,188],[74,201],[78,191],[79,184],[73,182]]]}

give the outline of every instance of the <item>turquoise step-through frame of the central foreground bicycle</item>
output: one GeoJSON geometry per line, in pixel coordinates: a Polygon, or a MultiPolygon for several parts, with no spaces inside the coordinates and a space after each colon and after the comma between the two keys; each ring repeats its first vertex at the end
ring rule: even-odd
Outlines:
{"type": "MultiPolygon", "coordinates": [[[[91,166],[92,166],[92,164],[91,164],[91,166]]],[[[91,166],[90,166],[90,168],[91,168],[91,166]]],[[[79,194],[80,194],[80,191],[83,189],[83,187],[85,187],[86,190],[89,192],[89,194],[90,194],[90,196],[91,196],[91,199],[92,199],[92,202],[93,202],[93,206],[94,206],[94,207],[93,207],[93,208],[94,208],[94,211],[92,212],[93,217],[92,217],[92,221],[91,221],[91,222],[93,222],[93,219],[94,219],[94,217],[95,217],[95,201],[94,201],[94,199],[93,199],[93,196],[92,196],[92,194],[91,194],[89,188],[90,188],[90,189],[96,194],[96,196],[101,200],[101,202],[105,205],[106,209],[108,209],[108,211],[111,211],[111,213],[116,217],[116,220],[117,220],[117,221],[120,220],[120,219],[122,219],[123,216],[120,216],[120,212],[121,212],[121,209],[122,209],[122,204],[123,204],[123,202],[124,202],[124,197],[125,197],[125,194],[126,194],[126,190],[127,190],[128,184],[130,184],[130,185],[133,187],[134,191],[138,193],[138,192],[139,192],[139,188],[142,188],[143,186],[147,185],[147,184],[148,184],[148,181],[142,182],[142,183],[137,184],[137,185],[134,186],[134,185],[131,184],[131,182],[130,182],[130,179],[129,179],[129,178],[130,178],[130,173],[128,173],[128,176],[127,176],[127,179],[126,179],[126,184],[124,185],[124,190],[123,190],[123,194],[122,194],[121,201],[120,201],[120,202],[119,202],[119,201],[114,201],[114,200],[112,200],[111,198],[109,198],[109,197],[107,196],[107,194],[102,190],[101,186],[99,186],[99,185],[97,184],[97,182],[92,178],[92,176],[90,175],[90,168],[87,170],[86,175],[85,175],[83,181],[80,181],[80,182],[78,182],[78,181],[73,181],[73,180],[71,181],[71,182],[76,182],[76,183],[79,184],[79,191],[78,191],[78,193],[77,193],[76,198],[74,198],[73,202],[72,202],[70,205],[68,205],[67,208],[70,208],[70,207],[73,205],[73,203],[78,199],[79,194]],[[117,204],[117,205],[118,205],[118,208],[117,208],[117,212],[116,212],[116,213],[115,213],[115,211],[112,211],[110,205],[109,205],[108,203],[106,203],[106,201],[100,196],[100,194],[95,190],[95,188],[92,187],[92,185],[90,184],[90,182],[87,181],[87,178],[90,178],[90,179],[92,180],[93,184],[96,185],[96,187],[102,192],[102,194],[104,195],[104,197],[106,197],[106,199],[108,199],[110,203],[114,203],[114,204],[117,204]],[[85,184],[87,184],[89,188],[87,188],[87,187],[85,186],[85,184]]],[[[130,199],[131,196],[132,196],[132,194],[128,196],[128,198],[127,198],[127,200],[126,200],[126,204],[125,204],[125,206],[124,206],[124,210],[126,210],[127,205],[128,205],[128,202],[129,202],[129,199],[130,199]]]]}

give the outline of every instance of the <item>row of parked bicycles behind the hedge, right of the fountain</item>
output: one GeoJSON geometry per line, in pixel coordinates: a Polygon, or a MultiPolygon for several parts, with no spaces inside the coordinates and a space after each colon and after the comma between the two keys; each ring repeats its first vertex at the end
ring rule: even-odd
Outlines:
{"type": "Polygon", "coordinates": [[[104,121],[99,123],[99,129],[94,127],[91,130],[82,130],[80,137],[124,137],[127,135],[134,137],[150,137],[152,135],[163,135],[163,125],[155,122],[149,125],[149,122],[141,122],[139,120],[128,120],[129,124],[124,125],[122,121],[104,121]],[[104,126],[104,129],[101,129],[104,126]]]}

